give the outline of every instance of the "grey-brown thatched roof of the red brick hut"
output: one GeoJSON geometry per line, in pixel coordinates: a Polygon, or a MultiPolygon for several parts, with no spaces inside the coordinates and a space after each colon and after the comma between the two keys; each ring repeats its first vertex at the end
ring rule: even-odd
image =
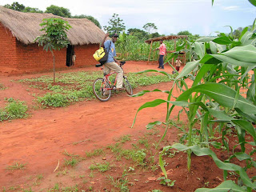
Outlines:
{"type": "MultiPolygon", "coordinates": [[[[62,18],[54,14],[22,13],[0,6],[0,22],[8,28],[18,41],[24,44],[34,43],[34,39],[43,34],[43,18],[62,18]]],[[[70,30],[67,36],[71,45],[98,44],[102,42],[105,33],[86,18],[62,18],[69,22],[70,30]]]]}

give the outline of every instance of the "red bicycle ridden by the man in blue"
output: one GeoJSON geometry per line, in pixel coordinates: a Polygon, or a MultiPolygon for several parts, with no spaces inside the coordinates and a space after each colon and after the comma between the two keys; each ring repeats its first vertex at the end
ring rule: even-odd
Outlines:
{"type": "MultiPolygon", "coordinates": [[[[125,63],[126,62],[119,62],[119,66],[122,68],[122,66],[125,63]]],[[[101,69],[103,70],[102,65],[100,65],[100,64],[96,65],[96,67],[100,67],[100,66],[101,66],[101,69]]],[[[117,72],[111,72],[110,74],[104,73],[103,78],[97,78],[94,81],[94,84],[93,84],[94,95],[96,96],[96,98],[98,98],[98,100],[100,100],[102,102],[106,102],[110,99],[111,90],[116,90],[117,76],[115,76],[114,82],[111,82],[110,76],[112,74],[118,74],[118,73],[117,72]]],[[[122,86],[125,88],[127,94],[130,94],[130,95],[133,94],[133,90],[130,86],[130,82],[128,81],[128,79],[125,75],[123,75],[122,86]]]]}

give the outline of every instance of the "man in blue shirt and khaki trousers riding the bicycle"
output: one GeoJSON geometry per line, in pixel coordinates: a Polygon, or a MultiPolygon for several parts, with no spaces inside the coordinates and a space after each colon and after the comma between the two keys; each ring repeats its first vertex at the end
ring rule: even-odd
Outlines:
{"type": "Polygon", "coordinates": [[[123,79],[123,70],[118,65],[118,60],[114,58],[116,56],[115,52],[115,46],[114,43],[118,40],[118,34],[113,34],[111,40],[107,40],[106,38],[109,36],[108,33],[106,33],[103,41],[102,41],[102,47],[106,49],[106,52],[108,52],[109,56],[104,64],[104,70],[103,72],[106,74],[110,74],[110,70],[113,70],[114,72],[117,72],[117,90],[122,90],[122,79],[123,79]],[[105,42],[106,41],[106,42],[105,42]]]}

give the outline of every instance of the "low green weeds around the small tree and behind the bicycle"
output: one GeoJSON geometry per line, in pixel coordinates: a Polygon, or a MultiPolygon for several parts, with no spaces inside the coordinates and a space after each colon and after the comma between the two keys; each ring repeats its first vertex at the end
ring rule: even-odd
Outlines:
{"type": "MultiPolygon", "coordinates": [[[[126,74],[126,76],[133,88],[170,81],[169,78],[162,74],[130,73],[126,74]]],[[[80,71],[58,74],[55,84],[53,84],[53,78],[47,75],[38,78],[25,78],[18,80],[18,82],[48,91],[47,94],[37,98],[37,101],[43,106],[62,107],[68,106],[73,102],[95,98],[92,83],[99,77],[102,77],[102,72],[100,71],[80,71]]]]}

